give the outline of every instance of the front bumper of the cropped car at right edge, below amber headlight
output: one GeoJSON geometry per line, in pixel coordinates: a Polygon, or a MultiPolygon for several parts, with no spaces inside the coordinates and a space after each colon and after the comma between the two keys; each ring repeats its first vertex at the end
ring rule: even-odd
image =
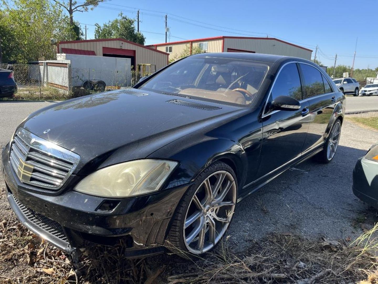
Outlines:
{"type": "Polygon", "coordinates": [[[378,162],[359,158],[353,170],[353,193],[378,209],[378,162]]]}

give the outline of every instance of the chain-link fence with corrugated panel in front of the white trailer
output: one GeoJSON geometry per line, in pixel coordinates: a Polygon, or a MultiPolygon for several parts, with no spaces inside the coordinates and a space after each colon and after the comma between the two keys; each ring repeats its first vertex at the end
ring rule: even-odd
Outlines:
{"type": "Polygon", "coordinates": [[[30,100],[63,100],[107,90],[131,87],[143,76],[139,70],[98,70],[71,68],[58,61],[35,64],[0,64],[1,69],[13,70],[18,92],[16,98],[30,100]]]}

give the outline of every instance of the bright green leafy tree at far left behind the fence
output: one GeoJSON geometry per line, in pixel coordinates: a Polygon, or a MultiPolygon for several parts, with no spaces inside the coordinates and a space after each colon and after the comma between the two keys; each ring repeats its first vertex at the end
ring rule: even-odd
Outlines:
{"type": "MultiPolygon", "coordinates": [[[[3,43],[3,50],[15,47],[8,60],[27,63],[32,60],[54,59],[55,45],[51,39],[70,40],[75,34],[67,16],[49,0],[14,0],[4,3],[2,27],[9,27],[13,41],[3,43]]],[[[6,31],[6,30],[4,30],[6,31]]],[[[2,29],[3,32],[3,29],[2,29]]]]}

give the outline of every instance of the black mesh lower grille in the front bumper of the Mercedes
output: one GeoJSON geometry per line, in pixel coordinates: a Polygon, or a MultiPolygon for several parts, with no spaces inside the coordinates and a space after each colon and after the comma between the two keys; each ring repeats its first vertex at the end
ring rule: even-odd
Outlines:
{"type": "Polygon", "coordinates": [[[51,220],[50,218],[47,218],[30,208],[27,208],[25,205],[21,204],[14,195],[12,196],[14,201],[19,206],[20,210],[23,212],[26,218],[28,218],[29,221],[33,222],[35,225],[39,226],[39,228],[45,230],[47,233],[57,237],[58,239],[68,242],[63,228],[58,222],[51,220]]]}

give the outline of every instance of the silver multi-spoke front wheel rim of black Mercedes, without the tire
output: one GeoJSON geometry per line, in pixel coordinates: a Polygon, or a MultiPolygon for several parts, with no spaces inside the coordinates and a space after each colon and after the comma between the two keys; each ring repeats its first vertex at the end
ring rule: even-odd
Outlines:
{"type": "Polygon", "coordinates": [[[198,187],[184,219],[184,242],[194,254],[213,248],[225,234],[234,214],[236,184],[231,173],[220,170],[198,187]]]}

